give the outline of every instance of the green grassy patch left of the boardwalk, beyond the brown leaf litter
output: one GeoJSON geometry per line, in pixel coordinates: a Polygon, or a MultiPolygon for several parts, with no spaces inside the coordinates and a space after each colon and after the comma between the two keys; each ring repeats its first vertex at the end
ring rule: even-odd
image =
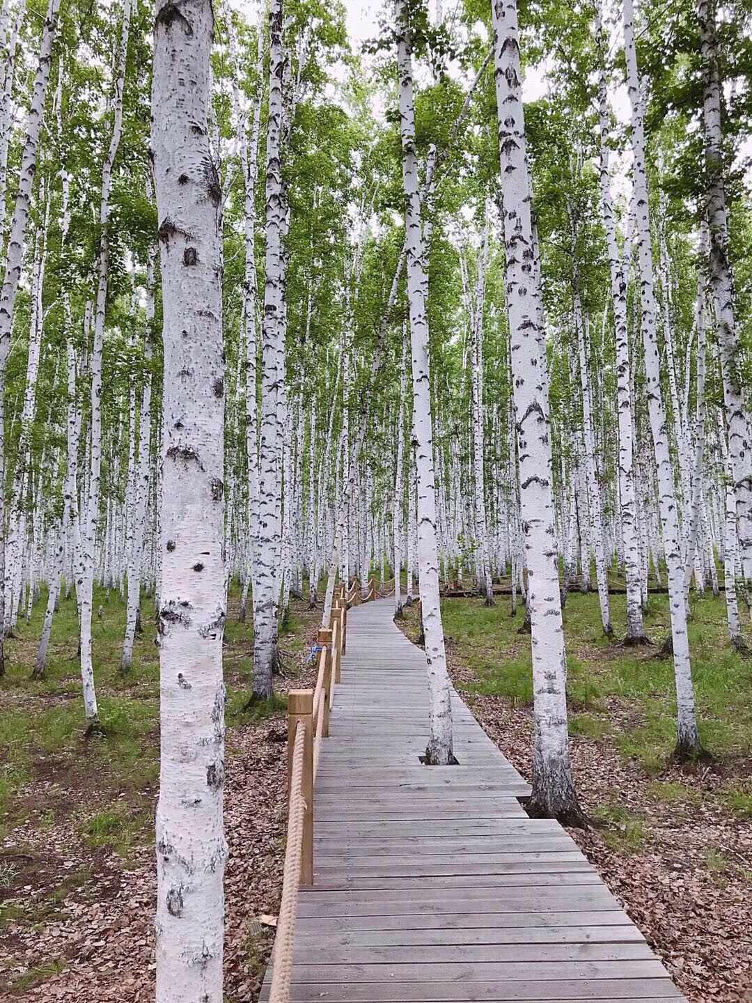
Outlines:
{"type": "MultiPolygon", "coordinates": [[[[258,723],[285,707],[279,694],[246,707],[253,616],[249,597],[247,620],[238,622],[239,599],[240,589],[234,586],[223,652],[231,739],[235,725],[258,723]]],[[[92,658],[99,727],[88,736],[73,596],[61,599],[55,614],[44,678],[31,679],[45,605],[42,592],[30,621],[20,618],[6,642],[6,675],[0,677],[0,835],[22,820],[44,829],[73,812],[80,816],[79,829],[92,848],[111,847],[127,857],[148,833],[150,826],[143,822],[152,811],[158,779],[159,664],[153,597],[142,597],[142,632],[136,634],[132,666],[122,675],[125,605],[117,591],[94,591],[92,658]],[[46,781],[44,795],[38,781],[46,781]]],[[[300,671],[299,653],[319,615],[309,613],[303,603],[292,605],[280,631],[281,671],[286,677],[300,671]]]]}

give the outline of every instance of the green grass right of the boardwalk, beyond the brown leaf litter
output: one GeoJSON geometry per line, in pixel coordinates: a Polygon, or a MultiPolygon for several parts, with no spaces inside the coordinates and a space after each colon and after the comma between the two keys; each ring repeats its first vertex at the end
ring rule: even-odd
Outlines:
{"type": "MultiPolygon", "coordinates": [[[[474,599],[446,599],[442,617],[459,661],[473,670],[468,693],[516,704],[532,701],[529,635],[518,634],[522,611],[509,616],[509,597],[487,608],[474,599]]],[[[614,637],[604,636],[598,595],[570,593],[563,614],[568,651],[570,732],[609,741],[650,774],[665,768],[676,742],[674,670],[657,657],[670,630],[668,596],[652,594],[645,613],[651,647],[619,643],[626,623],[626,597],[611,597],[614,637]]],[[[752,644],[752,631],[744,625],[752,644]]],[[[752,660],[728,643],[723,596],[693,597],[688,625],[700,735],[717,763],[752,754],[752,660]]],[[[741,816],[750,792],[730,784],[724,800],[741,816]]]]}

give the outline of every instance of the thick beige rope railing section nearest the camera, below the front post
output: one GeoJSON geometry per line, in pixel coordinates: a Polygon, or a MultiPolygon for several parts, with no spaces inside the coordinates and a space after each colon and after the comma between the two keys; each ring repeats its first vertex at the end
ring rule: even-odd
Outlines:
{"type": "Polygon", "coordinates": [[[274,970],[270,1003],[289,1003],[290,979],[293,972],[293,937],[298,910],[301,855],[303,851],[303,820],[306,801],[301,793],[303,781],[303,747],[306,740],[306,723],[298,721],[293,748],[293,775],[290,781],[290,810],[287,821],[287,849],[282,882],[282,902],[277,920],[277,937],[274,942],[274,970]]]}

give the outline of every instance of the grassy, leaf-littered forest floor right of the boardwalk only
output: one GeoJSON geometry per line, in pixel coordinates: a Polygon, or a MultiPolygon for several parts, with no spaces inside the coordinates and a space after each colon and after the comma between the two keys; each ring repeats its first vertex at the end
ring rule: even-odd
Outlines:
{"type": "MultiPolygon", "coordinates": [[[[530,779],[529,635],[508,597],[442,602],[452,680],[485,731],[530,779]]],[[[611,600],[616,637],[625,597],[611,600]]],[[[730,648],[723,596],[692,602],[689,625],[700,734],[712,753],[671,761],[673,665],[657,647],[603,636],[597,594],[565,611],[573,771],[592,825],[571,829],[692,1003],[742,1003],[752,986],[752,660],[730,648]]],[[[649,637],[669,631],[668,597],[651,595],[649,637]]],[[[404,632],[417,637],[416,608],[404,632]]],[[[752,645],[749,621],[745,633],[752,645]]]]}

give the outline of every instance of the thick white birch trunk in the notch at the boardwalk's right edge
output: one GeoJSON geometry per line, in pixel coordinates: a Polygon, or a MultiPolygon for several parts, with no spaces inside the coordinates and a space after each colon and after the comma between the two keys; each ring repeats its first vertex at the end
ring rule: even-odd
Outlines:
{"type": "Polygon", "coordinates": [[[491,0],[506,303],[519,452],[519,504],[528,572],[533,772],[528,812],[581,824],[570,765],[567,655],[556,567],[548,402],[542,396],[516,0],[491,0]]]}

